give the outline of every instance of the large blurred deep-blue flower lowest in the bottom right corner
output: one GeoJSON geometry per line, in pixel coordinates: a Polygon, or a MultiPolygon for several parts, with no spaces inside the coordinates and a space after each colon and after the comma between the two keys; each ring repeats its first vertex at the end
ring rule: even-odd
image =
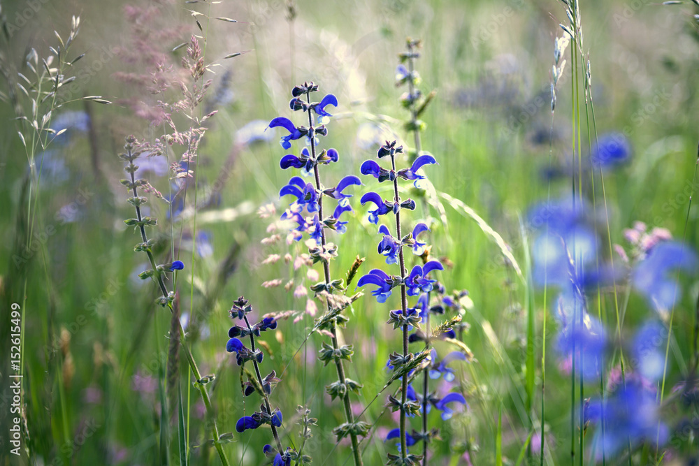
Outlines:
{"type": "Polygon", "coordinates": [[[609,458],[632,446],[649,441],[658,446],[668,440],[668,427],[658,416],[656,393],[640,381],[626,380],[606,400],[594,400],[585,409],[585,421],[600,424],[604,428],[596,432],[600,440],[598,458],[609,458]]]}

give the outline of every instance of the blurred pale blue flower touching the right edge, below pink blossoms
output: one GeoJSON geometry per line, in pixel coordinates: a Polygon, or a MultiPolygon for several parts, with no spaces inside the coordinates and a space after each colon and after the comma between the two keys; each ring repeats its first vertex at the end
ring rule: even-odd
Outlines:
{"type": "Polygon", "coordinates": [[[670,310],[682,296],[671,270],[696,272],[697,256],[681,242],[665,241],[655,245],[632,272],[633,286],[658,311],[670,310]]]}

